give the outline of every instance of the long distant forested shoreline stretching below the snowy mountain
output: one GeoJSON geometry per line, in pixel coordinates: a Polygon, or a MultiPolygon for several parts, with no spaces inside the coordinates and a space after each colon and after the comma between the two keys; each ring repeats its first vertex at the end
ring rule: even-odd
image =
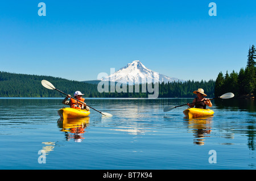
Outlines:
{"type": "MultiPolygon", "coordinates": [[[[135,86],[133,91],[129,92],[129,86],[127,86],[126,92],[98,92],[97,84],[85,83],[79,81],[69,81],[63,78],[56,78],[43,75],[27,75],[27,74],[15,74],[0,71],[0,96],[1,97],[40,97],[40,98],[56,98],[65,96],[58,91],[48,90],[42,86],[42,79],[46,79],[51,82],[57,89],[71,94],[76,90],[85,94],[85,97],[89,98],[148,98],[148,94],[154,94],[154,92],[143,92],[142,87],[152,87],[153,90],[156,85],[139,85],[139,92],[135,92],[135,86]]],[[[214,96],[215,81],[187,81],[187,82],[168,82],[159,83],[158,85],[158,97],[159,98],[190,98],[194,97],[194,90],[203,88],[208,97],[214,96]]]]}

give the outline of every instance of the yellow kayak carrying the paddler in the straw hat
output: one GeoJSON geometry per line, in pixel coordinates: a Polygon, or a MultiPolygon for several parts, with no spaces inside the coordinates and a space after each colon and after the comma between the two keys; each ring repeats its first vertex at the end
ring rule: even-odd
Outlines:
{"type": "Polygon", "coordinates": [[[184,110],[183,113],[188,118],[206,117],[214,114],[213,110],[200,108],[188,108],[187,110],[184,110]]]}

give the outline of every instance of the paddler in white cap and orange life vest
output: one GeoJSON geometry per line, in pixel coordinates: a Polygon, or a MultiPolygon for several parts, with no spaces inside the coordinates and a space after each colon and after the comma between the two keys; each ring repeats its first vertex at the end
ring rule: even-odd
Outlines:
{"type": "Polygon", "coordinates": [[[77,100],[80,100],[83,103],[71,98],[71,95],[69,95],[69,94],[65,97],[65,99],[62,101],[62,103],[65,104],[65,105],[69,105],[71,108],[75,108],[75,109],[78,109],[78,110],[90,111],[90,108],[88,106],[86,106],[86,103],[84,102],[85,99],[82,98],[82,95],[84,95],[84,94],[82,94],[80,91],[76,91],[74,93],[74,97],[77,100]],[[71,98],[71,99],[68,100],[68,98],[71,98]]]}

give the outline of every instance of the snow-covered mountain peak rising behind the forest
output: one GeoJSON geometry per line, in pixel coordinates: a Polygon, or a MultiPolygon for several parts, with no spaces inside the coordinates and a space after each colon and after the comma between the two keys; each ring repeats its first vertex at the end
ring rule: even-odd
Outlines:
{"type": "Polygon", "coordinates": [[[156,83],[156,82],[173,82],[183,81],[178,78],[171,78],[156,71],[146,68],[139,60],[127,64],[115,73],[102,78],[101,81],[112,81],[121,83],[156,83]]]}

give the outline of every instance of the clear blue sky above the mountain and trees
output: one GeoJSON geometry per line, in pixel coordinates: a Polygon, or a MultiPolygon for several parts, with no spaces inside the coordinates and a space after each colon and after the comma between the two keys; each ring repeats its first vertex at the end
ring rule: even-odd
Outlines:
{"type": "Polygon", "coordinates": [[[0,70],[85,81],[140,60],[169,77],[208,81],[246,66],[255,7],[255,0],[5,0],[0,70]],[[210,2],[217,16],[209,16],[210,2]]]}

